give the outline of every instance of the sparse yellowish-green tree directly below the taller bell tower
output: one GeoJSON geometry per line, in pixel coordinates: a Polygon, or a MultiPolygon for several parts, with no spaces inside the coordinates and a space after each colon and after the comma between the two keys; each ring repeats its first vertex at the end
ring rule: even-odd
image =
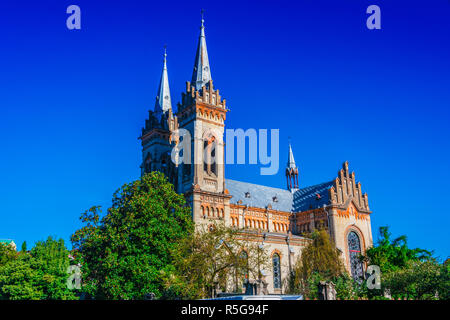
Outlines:
{"type": "Polygon", "coordinates": [[[213,289],[242,291],[245,279],[261,279],[268,265],[262,245],[250,241],[250,234],[226,227],[223,222],[199,225],[184,242],[177,268],[189,285],[190,298],[211,297],[213,289]]]}

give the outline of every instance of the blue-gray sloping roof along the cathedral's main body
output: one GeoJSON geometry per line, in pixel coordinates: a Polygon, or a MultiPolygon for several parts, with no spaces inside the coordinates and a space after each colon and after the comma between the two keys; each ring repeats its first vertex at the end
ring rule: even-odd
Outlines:
{"type": "Polygon", "coordinates": [[[298,189],[292,193],[280,188],[230,179],[225,180],[225,187],[232,196],[230,203],[236,204],[239,200],[242,200],[242,205],[257,208],[266,208],[270,204],[273,210],[286,212],[301,212],[327,205],[329,203],[328,189],[332,185],[333,181],[330,181],[298,189]],[[317,194],[320,195],[320,199],[317,199],[317,194]]]}

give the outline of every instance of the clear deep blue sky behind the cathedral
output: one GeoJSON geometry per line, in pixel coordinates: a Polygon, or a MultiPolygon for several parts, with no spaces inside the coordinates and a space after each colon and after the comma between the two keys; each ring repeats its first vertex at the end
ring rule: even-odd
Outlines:
{"type": "MultiPolygon", "coordinates": [[[[379,226],[449,255],[450,1],[1,1],[0,238],[68,241],[79,214],[139,177],[138,136],[167,44],[174,104],[200,9],[229,128],[292,138],[300,185],[342,162],[379,226]],[[77,4],[82,29],[66,28],[77,4]],[[381,8],[381,30],[366,8],[381,8]]],[[[256,165],[226,176],[284,188],[256,165]]]]}

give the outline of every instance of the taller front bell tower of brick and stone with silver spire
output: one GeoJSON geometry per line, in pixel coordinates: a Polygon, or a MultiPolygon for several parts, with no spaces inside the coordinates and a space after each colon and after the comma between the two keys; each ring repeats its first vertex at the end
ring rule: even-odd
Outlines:
{"type": "Polygon", "coordinates": [[[228,211],[223,142],[227,108],[213,85],[203,17],[192,78],[177,106],[179,127],[187,130],[191,139],[191,163],[180,165],[179,190],[191,202],[194,220],[224,219],[228,211]]]}

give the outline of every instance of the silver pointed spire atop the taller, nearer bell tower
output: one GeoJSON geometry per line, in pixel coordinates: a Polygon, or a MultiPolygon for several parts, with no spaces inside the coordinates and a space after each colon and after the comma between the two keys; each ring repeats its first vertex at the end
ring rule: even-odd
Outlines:
{"type": "Polygon", "coordinates": [[[204,22],[202,10],[202,25],[200,27],[200,36],[198,39],[197,53],[195,54],[194,72],[192,73],[191,81],[191,84],[195,86],[195,89],[197,90],[200,90],[203,86],[208,84],[209,80],[211,80],[204,22]]]}

